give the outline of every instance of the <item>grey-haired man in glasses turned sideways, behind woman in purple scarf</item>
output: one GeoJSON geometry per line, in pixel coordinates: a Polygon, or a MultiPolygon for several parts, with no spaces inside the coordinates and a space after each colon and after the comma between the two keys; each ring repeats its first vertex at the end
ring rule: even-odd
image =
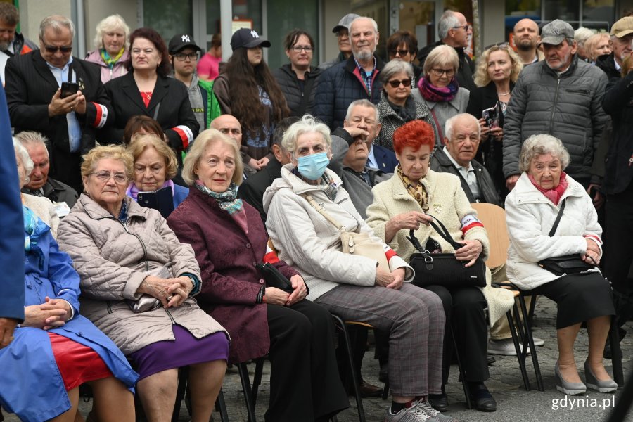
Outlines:
{"type": "Polygon", "coordinates": [[[428,53],[433,51],[435,47],[442,44],[452,46],[457,51],[457,56],[459,56],[459,68],[455,75],[457,82],[460,87],[473,91],[476,88],[475,80],[473,79],[475,65],[470,56],[464,51],[468,46],[470,36],[473,34],[473,29],[466,22],[466,16],[459,12],[445,11],[442,18],[440,18],[440,23],[437,24],[437,34],[440,35],[440,41],[429,44],[420,50],[418,54],[420,66],[424,67],[424,61],[428,53]]]}

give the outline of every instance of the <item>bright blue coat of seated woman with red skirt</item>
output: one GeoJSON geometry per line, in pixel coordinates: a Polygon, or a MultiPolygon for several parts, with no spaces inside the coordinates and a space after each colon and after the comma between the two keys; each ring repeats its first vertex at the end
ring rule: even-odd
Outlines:
{"type": "MultiPolygon", "coordinates": [[[[37,247],[41,250],[41,257],[28,252],[25,260],[24,306],[44,303],[46,296],[68,301],[75,316],[64,326],[49,332],[91,347],[114,376],[133,390],[138,374],[112,340],[79,315],[79,275],[72,268],[70,257],[58,249],[50,229],[47,228],[39,238],[37,247]]],[[[6,267],[4,271],[9,269],[11,267],[6,267]]],[[[0,404],[21,420],[44,421],[70,409],[70,400],[53,357],[47,331],[17,328],[13,342],[0,349],[0,368],[0,404]]]]}

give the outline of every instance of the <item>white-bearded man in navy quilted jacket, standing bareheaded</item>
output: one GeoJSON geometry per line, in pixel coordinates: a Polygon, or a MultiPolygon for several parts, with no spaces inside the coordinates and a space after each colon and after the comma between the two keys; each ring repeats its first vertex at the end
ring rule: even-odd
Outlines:
{"type": "Polygon", "coordinates": [[[379,35],[378,24],[372,18],[354,19],[350,25],[352,56],[321,73],[312,113],[331,130],[343,127],[352,101],[380,101],[382,84],[378,72],[385,63],[374,55],[379,35]]]}

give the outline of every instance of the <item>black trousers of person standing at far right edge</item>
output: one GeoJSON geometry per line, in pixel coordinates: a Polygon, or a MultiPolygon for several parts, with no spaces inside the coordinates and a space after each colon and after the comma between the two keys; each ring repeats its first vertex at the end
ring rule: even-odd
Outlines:
{"type": "Polygon", "coordinates": [[[606,201],[604,255],[605,274],[615,295],[618,326],[633,316],[633,183],[622,193],[608,195],[606,201]]]}

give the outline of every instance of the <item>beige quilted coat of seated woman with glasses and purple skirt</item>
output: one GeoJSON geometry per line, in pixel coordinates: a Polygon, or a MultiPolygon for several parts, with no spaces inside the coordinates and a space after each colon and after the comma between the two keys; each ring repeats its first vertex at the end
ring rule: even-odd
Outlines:
{"type": "Polygon", "coordinates": [[[172,276],[192,274],[200,279],[200,269],[191,246],[179,243],[158,211],[129,197],[125,201],[125,225],[82,194],[59,226],[60,248],[68,252],[82,279],[82,315],[126,355],[157,341],[174,340],[172,324],[196,338],[224,331],[193,298],[177,308],[141,314],[129,309],[125,300],[136,300],[136,289],[148,271],[171,263],[172,276]]]}

